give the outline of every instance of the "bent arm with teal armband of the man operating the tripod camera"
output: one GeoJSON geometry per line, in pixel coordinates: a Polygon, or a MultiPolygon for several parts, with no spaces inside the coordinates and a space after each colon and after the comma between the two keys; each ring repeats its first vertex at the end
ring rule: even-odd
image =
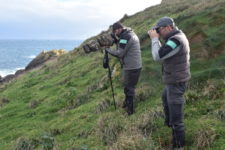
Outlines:
{"type": "Polygon", "coordinates": [[[127,36],[121,37],[118,44],[119,45],[116,50],[107,49],[107,51],[115,57],[123,58],[131,47],[131,44],[132,44],[131,36],[127,35],[127,36]]]}

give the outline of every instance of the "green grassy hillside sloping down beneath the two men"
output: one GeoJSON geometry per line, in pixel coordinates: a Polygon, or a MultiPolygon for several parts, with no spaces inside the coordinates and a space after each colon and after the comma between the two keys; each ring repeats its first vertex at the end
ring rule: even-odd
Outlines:
{"type": "MultiPolygon", "coordinates": [[[[138,34],[143,69],[136,113],[114,110],[103,54],[81,48],[0,85],[0,150],[164,150],[161,66],[153,61],[149,28],[175,18],[191,43],[185,149],[225,149],[225,0],[163,1],[121,21],[138,34]]],[[[124,99],[121,69],[110,58],[116,102],[124,99]]]]}

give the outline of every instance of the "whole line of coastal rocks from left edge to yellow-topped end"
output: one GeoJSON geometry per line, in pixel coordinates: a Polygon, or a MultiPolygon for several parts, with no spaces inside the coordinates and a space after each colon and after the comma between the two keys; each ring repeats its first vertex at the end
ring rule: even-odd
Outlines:
{"type": "Polygon", "coordinates": [[[15,77],[25,73],[26,71],[32,70],[36,67],[43,65],[45,62],[52,60],[58,56],[65,54],[65,50],[51,50],[51,51],[43,51],[36,58],[34,58],[25,69],[17,70],[15,74],[10,74],[5,76],[4,78],[0,76],[0,84],[4,82],[9,82],[15,77]]]}

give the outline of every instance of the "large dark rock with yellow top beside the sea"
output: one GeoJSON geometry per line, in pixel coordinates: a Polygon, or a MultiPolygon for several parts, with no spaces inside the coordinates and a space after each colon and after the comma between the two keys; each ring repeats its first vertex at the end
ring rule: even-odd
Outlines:
{"type": "Polygon", "coordinates": [[[46,61],[61,56],[65,54],[65,50],[51,50],[51,51],[43,51],[36,58],[34,58],[25,68],[25,70],[30,70],[35,67],[38,67],[45,63],[46,61]]]}

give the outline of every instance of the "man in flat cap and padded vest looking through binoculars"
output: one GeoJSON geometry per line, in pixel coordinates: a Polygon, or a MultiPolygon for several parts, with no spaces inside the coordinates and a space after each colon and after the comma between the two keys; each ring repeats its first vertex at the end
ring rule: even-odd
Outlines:
{"type": "Polygon", "coordinates": [[[172,128],[173,148],[182,148],[185,145],[183,95],[187,81],[191,78],[189,42],[169,17],[161,18],[148,34],[151,38],[153,59],[162,63],[165,124],[172,128]],[[159,37],[164,39],[165,44],[161,45],[159,37]]]}

